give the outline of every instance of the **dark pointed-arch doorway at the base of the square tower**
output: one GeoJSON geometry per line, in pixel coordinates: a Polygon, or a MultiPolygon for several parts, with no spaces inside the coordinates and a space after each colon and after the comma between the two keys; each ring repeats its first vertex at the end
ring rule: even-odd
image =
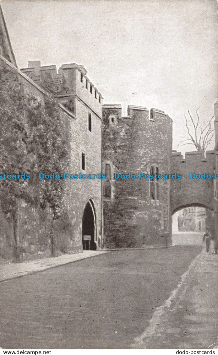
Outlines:
{"type": "Polygon", "coordinates": [[[88,201],[82,217],[82,248],[96,250],[96,214],[92,201],[88,201]]]}

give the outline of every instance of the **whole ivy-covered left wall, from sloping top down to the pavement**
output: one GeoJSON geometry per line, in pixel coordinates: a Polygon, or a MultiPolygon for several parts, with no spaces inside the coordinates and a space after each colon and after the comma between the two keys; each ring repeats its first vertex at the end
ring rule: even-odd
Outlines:
{"type": "Polygon", "coordinates": [[[19,72],[3,62],[0,102],[0,174],[20,175],[0,179],[5,225],[0,256],[20,261],[28,253],[67,252],[71,223],[64,202],[65,182],[39,180],[38,173],[50,175],[69,166],[69,121],[52,95],[35,95],[26,89],[19,72]],[[24,174],[31,178],[21,179],[24,174]]]}

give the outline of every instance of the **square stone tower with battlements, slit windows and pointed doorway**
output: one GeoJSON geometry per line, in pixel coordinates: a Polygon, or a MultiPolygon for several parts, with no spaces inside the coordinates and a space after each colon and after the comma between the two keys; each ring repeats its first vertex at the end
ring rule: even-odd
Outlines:
{"type": "MultiPolygon", "coordinates": [[[[99,174],[101,172],[101,107],[102,95],[90,82],[83,66],[64,64],[56,72],[56,66],[41,66],[40,61],[29,61],[22,69],[43,88],[50,88],[56,100],[64,105],[70,115],[71,157],[69,174],[99,174]],[[90,92],[92,86],[92,93],[90,92]],[[99,99],[100,97],[100,99],[99,99]],[[91,131],[88,116],[91,115],[91,131]],[[85,170],[81,169],[82,153],[85,153],[85,170]]],[[[66,179],[66,206],[73,225],[75,247],[82,247],[82,215],[89,200],[96,212],[96,244],[101,245],[101,180],[66,179]]]]}

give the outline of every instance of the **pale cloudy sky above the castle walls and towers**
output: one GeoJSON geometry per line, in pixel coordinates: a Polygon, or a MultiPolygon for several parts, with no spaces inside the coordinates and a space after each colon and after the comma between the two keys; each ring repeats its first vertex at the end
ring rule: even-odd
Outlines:
{"type": "MultiPolygon", "coordinates": [[[[140,105],[173,119],[173,148],[186,137],[184,113],[201,124],[218,100],[216,0],[2,0],[18,67],[78,63],[104,103],[140,105]]],[[[158,132],[157,132],[158,134],[158,132]]],[[[213,146],[209,146],[212,149],[213,146]]]]}

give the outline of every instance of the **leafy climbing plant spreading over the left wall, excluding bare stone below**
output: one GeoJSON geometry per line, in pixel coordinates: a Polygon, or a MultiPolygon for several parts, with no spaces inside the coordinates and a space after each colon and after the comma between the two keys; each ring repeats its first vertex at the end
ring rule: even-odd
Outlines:
{"type": "Polygon", "coordinates": [[[0,174],[10,174],[11,179],[0,179],[0,200],[2,212],[13,221],[18,260],[22,257],[17,233],[20,201],[42,208],[48,205],[58,219],[64,208],[64,181],[39,180],[38,173],[64,171],[69,161],[69,129],[56,102],[48,95],[40,99],[28,93],[22,80],[15,69],[1,64],[0,174]]]}

